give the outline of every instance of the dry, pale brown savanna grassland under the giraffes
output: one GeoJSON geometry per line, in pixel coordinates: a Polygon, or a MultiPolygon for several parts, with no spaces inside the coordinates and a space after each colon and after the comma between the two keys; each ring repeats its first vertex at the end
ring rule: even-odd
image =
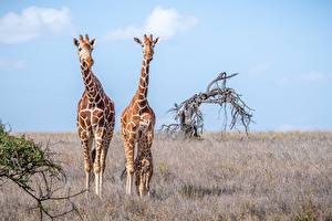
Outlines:
{"type": "MultiPolygon", "coordinates": [[[[56,155],[65,188],[84,187],[76,134],[28,134],[56,155]]],[[[203,140],[157,136],[151,197],[125,196],[122,138],[107,155],[103,199],[72,201],[84,220],[332,220],[332,133],[206,134],[203,140]]],[[[92,182],[92,187],[94,183],[92,182]]],[[[0,187],[0,220],[37,220],[19,188],[0,187]]],[[[50,204],[56,211],[58,202],[50,204]]],[[[61,220],[77,220],[71,213],[61,220]]]]}

